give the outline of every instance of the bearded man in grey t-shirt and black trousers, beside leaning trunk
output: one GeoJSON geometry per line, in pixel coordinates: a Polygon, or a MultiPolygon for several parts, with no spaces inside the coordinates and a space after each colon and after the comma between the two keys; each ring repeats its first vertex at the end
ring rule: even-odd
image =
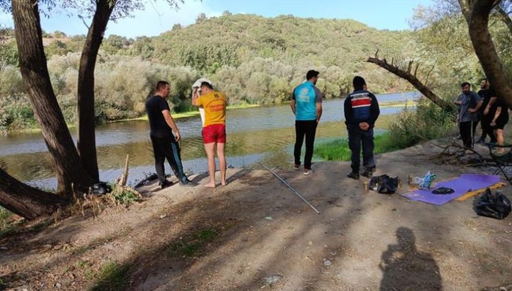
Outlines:
{"type": "Polygon", "coordinates": [[[482,97],[471,91],[468,82],[461,84],[462,94],[454,103],[460,105],[459,131],[462,143],[466,148],[473,148],[475,144],[475,130],[478,123],[478,110],[482,106],[482,97]]]}

